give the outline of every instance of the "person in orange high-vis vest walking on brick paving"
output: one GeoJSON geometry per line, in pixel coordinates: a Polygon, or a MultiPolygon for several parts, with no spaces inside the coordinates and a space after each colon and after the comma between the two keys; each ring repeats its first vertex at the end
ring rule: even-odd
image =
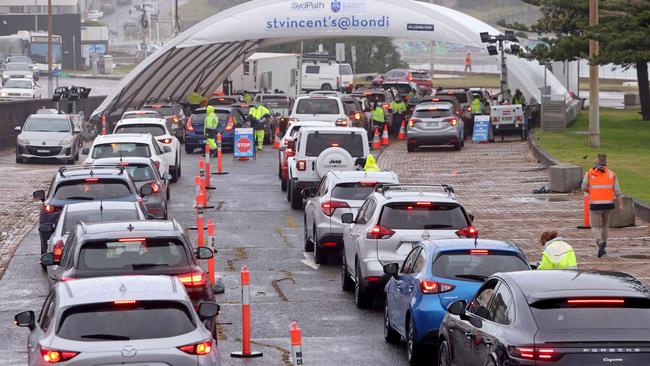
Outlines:
{"type": "Polygon", "coordinates": [[[589,218],[591,232],[598,244],[598,258],[607,254],[609,218],[618,207],[623,211],[621,187],[614,171],[607,168],[607,155],[598,154],[594,165],[582,180],[582,190],[589,192],[589,218]]]}

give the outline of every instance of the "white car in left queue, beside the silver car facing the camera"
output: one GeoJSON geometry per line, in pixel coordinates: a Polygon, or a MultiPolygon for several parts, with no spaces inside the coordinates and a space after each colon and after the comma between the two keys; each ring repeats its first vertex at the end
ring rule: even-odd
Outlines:
{"type": "Polygon", "coordinates": [[[84,164],[92,165],[97,159],[141,157],[151,158],[160,176],[170,171],[170,164],[165,154],[172,149],[162,145],[151,134],[124,133],[118,135],[99,135],[95,137],[90,148],[84,148],[82,153],[87,155],[84,164]]]}

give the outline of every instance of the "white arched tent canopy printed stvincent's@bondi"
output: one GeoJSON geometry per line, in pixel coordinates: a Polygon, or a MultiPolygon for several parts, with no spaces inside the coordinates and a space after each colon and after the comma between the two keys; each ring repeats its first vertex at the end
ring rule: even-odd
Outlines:
{"type": "MultiPolygon", "coordinates": [[[[482,47],[480,32],[499,33],[469,15],[413,0],[254,0],[205,19],[158,49],[120,81],[93,116],[121,114],[151,97],[183,100],[195,88],[215,90],[248,56],[276,44],[384,36],[482,47]]],[[[540,100],[543,66],[509,56],[508,68],[513,88],[540,100]]],[[[557,79],[547,79],[555,94],[563,93],[557,79]]]]}

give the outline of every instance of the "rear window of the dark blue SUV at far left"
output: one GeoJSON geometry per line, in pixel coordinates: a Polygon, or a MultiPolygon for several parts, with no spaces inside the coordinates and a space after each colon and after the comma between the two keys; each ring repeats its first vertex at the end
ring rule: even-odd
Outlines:
{"type": "Polygon", "coordinates": [[[61,200],[98,201],[132,197],[129,185],[120,179],[87,178],[61,182],[53,198],[61,200]]]}

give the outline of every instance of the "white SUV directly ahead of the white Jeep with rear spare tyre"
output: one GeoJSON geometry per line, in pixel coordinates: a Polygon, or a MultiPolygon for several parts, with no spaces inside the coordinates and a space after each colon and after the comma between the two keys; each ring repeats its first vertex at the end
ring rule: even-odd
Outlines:
{"type": "Polygon", "coordinates": [[[296,99],[289,120],[325,121],[332,126],[350,127],[352,120],[345,114],[343,102],[338,96],[307,95],[296,99]]]}

